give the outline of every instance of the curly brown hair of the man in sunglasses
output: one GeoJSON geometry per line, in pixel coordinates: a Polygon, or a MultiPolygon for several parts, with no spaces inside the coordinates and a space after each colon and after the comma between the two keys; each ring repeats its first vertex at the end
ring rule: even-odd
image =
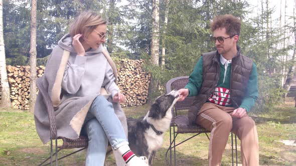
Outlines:
{"type": "Polygon", "coordinates": [[[214,17],[210,26],[212,32],[218,28],[224,27],[226,29],[226,33],[230,36],[240,34],[240,19],[231,14],[218,15],[214,17]]]}

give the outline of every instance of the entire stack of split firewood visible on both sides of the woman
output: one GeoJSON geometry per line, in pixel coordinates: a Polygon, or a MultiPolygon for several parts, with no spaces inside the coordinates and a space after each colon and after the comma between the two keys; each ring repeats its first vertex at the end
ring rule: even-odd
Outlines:
{"type": "MultiPolygon", "coordinates": [[[[144,71],[143,60],[122,59],[118,61],[118,86],[126,97],[121,106],[139,106],[147,102],[150,73],[144,71]]],[[[11,89],[12,107],[29,109],[30,66],[7,66],[11,89]]],[[[44,66],[37,67],[37,76],[43,75],[44,66]]]]}

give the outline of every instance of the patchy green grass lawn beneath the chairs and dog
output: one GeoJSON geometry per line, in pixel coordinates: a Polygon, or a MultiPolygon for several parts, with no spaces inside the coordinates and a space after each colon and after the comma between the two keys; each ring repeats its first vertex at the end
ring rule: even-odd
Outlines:
{"type": "MultiPolygon", "coordinates": [[[[260,165],[296,165],[296,146],[284,145],[280,140],[296,139],[296,108],[289,99],[268,113],[251,114],[259,136],[260,165]]],[[[126,116],[145,115],[149,105],[123,108],[126,116]]],[[[184,113],[184,112],[183,112],[184,113]]],[[[192,134],[179,134],[177,142],[192,134]]],[[[169,146],[169,131],[165,133],[163,147],[157,152],[154,165],[168,165],[165,160],[169,146]]],[[[226,145],[222,165],[231,165],[231,139],[226,145]]],[[[59,142],[61,143],[61,142],[59,142]]],[[[238,140],[238,163],[240,149],[238,140]]],[[[0,165],[37,165],[50,155],[50,145],[42,144],[34,123],[32,112],[17,109],[0,109],[0,165]]],[[[67,153],[72,150],[62,150],[67,153]]],[[[177,146],[177,165],[207,165],[208,139],[198,135],[177,146]]],[[[59,161],[59,165],[84,165],[85,151],[59,161]]],[[[112,155],[107,157],[108,165],[115,165],[112,155]]]]}

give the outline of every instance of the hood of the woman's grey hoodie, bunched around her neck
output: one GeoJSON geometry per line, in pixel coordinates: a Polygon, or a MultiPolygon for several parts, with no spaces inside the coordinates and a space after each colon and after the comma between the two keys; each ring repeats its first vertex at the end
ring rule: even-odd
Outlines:
{"type": "MultiPolygon", "coordinates": [[[[65,34],[58,42],[58,45],[65,49],[68,50],[70,52],[74,52],[76,53],[76,50],[74,49],[73,45],[72,45],[72,37],[69,33],[65,34]]],[[[102,44],[100,44],[100,46],[97,49],[93,49],[91,48],[90,50],[85,52],[85,56],[89,56],[89,55],[94,55],[97,53],[102,52],[102,44]]]]}

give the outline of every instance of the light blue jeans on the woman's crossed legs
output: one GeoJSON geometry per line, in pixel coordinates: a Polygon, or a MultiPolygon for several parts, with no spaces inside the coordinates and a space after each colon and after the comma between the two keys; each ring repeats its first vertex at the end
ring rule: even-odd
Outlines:
{"type": "Polygon", "coordinates": [[[88,110],[82,134],[86,134],[89,139],[85,165],[104,165],[108,141],[113,149],[128,144],[112,103],[100,95],[88,110]]]}

